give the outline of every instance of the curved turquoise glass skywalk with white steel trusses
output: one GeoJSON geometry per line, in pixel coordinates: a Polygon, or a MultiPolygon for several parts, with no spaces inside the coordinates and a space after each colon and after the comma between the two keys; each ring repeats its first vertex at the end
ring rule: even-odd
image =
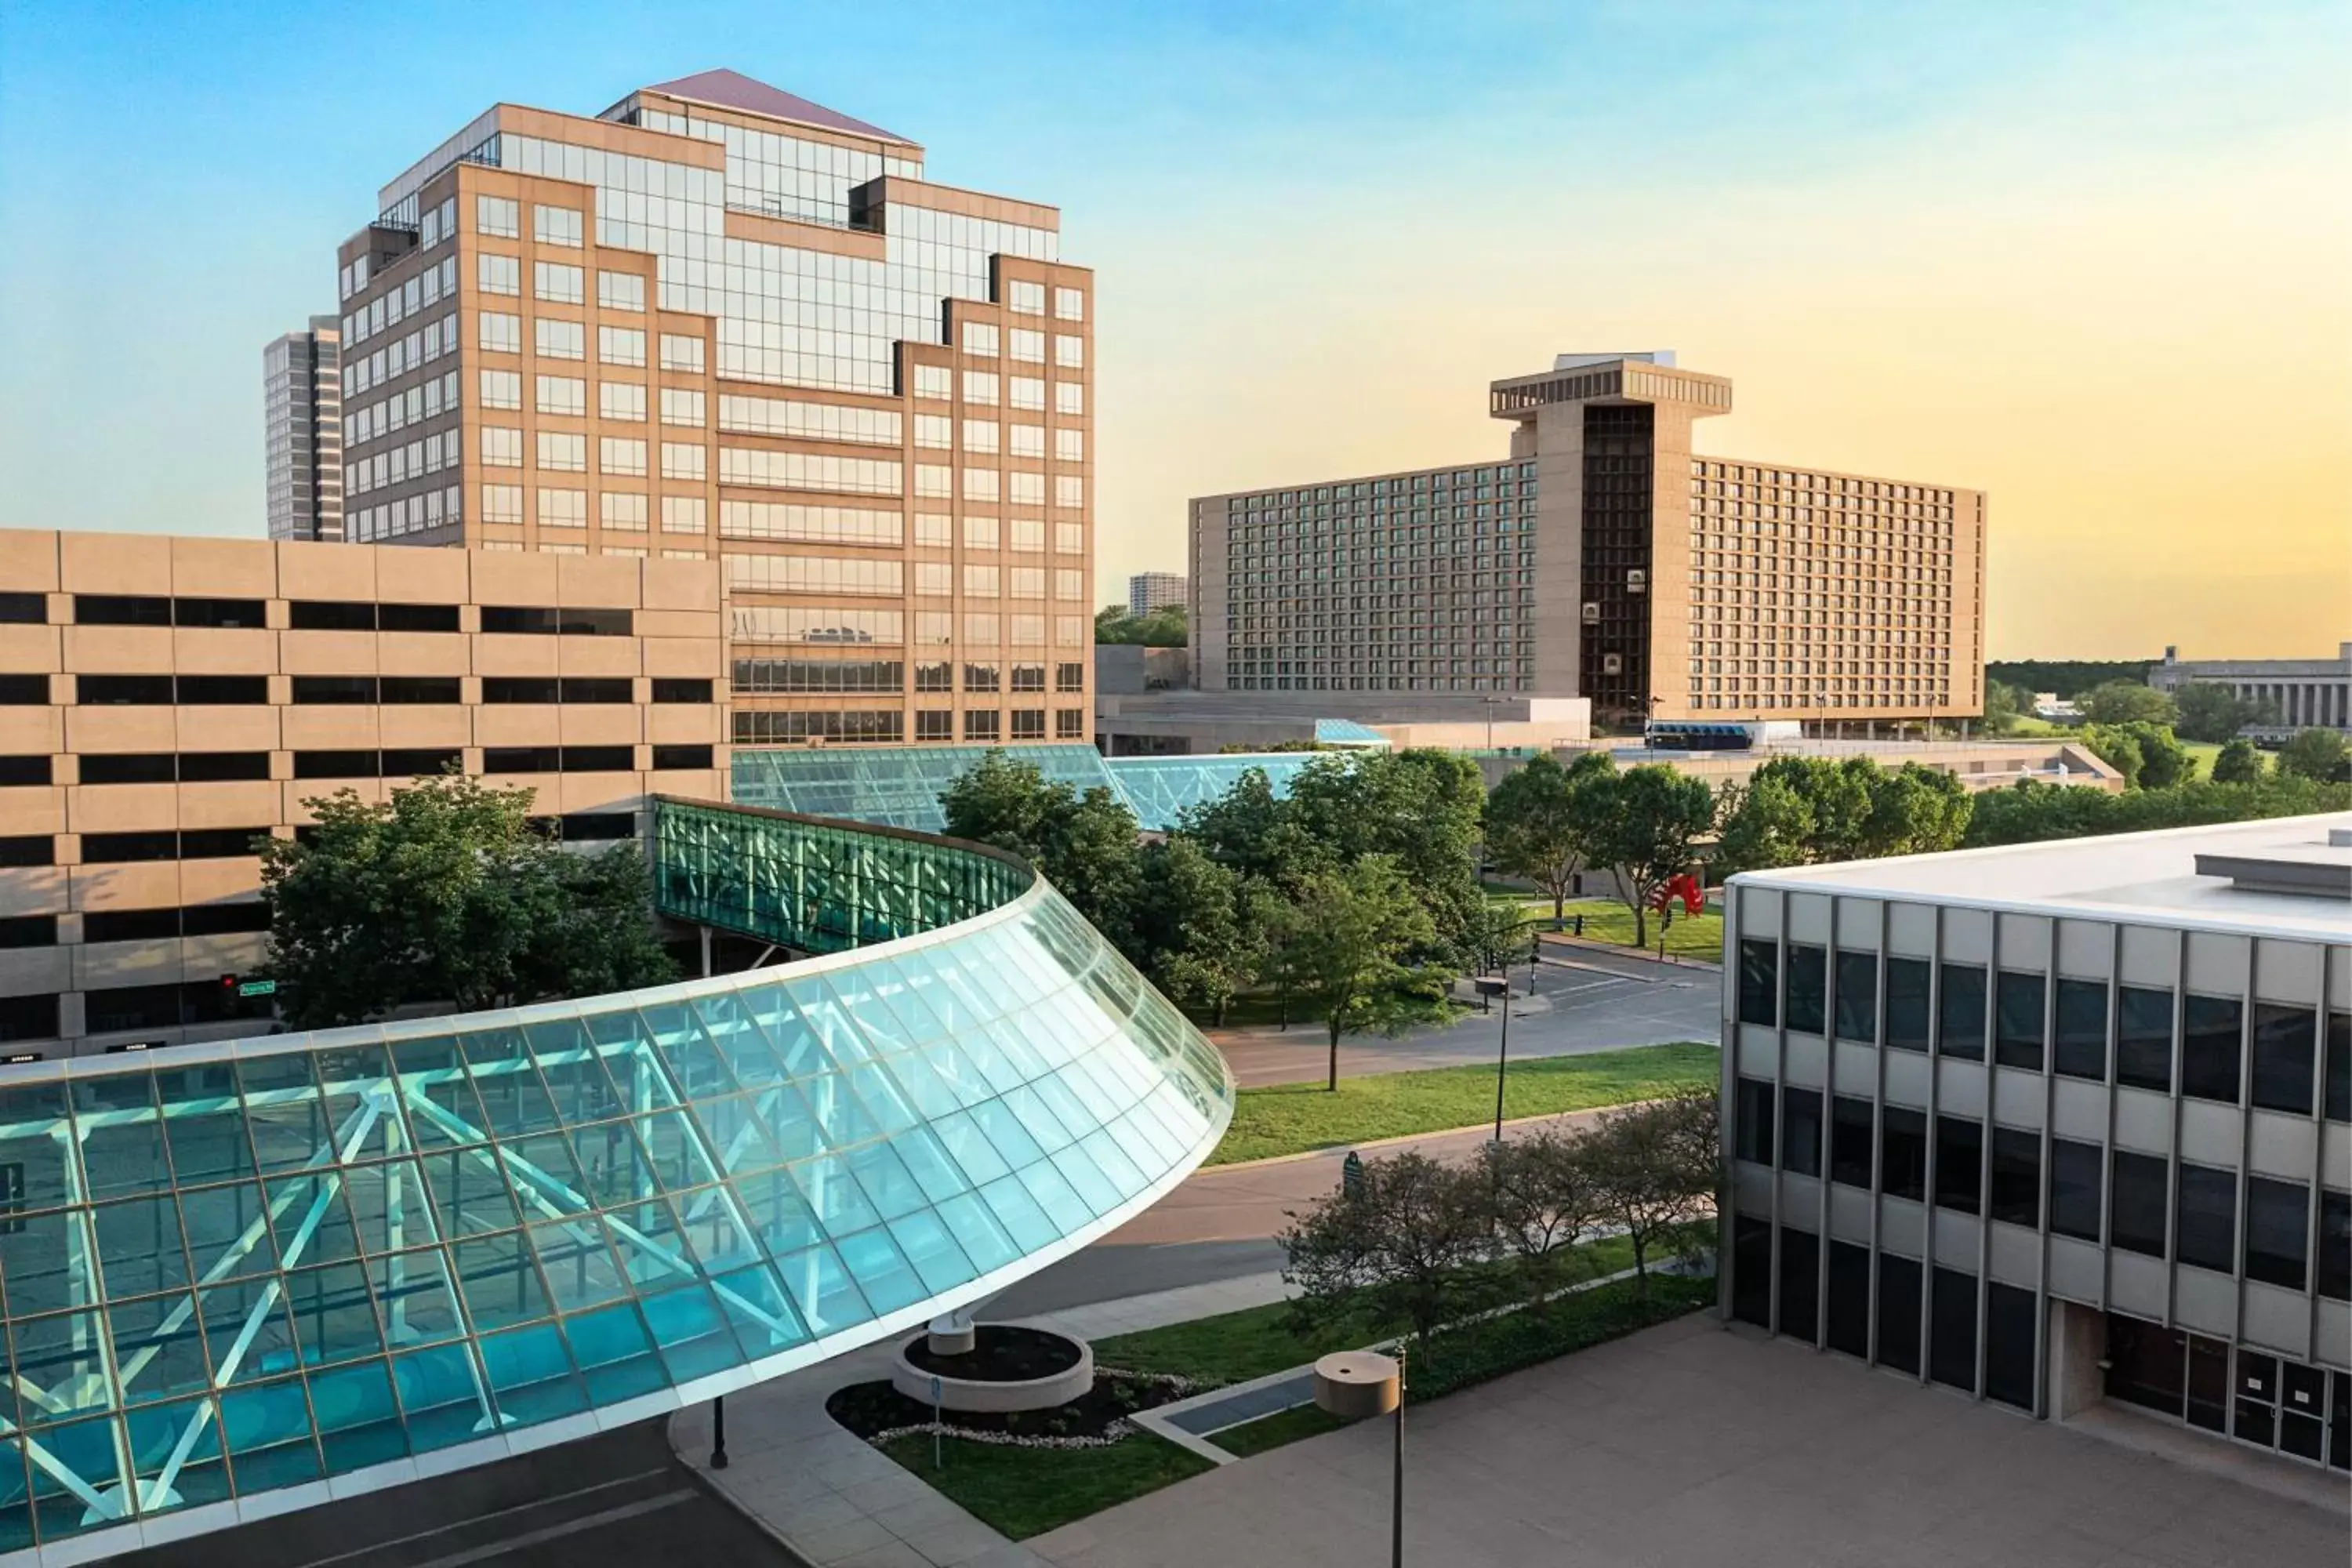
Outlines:
{"type": "Polygon", "coordinates": [[[1049,884],[663,802],[795,964],[0,1070],[0,1563],[710,1399],[985,1300],[1216,1145],[1216,1051],[1049,884]]]}

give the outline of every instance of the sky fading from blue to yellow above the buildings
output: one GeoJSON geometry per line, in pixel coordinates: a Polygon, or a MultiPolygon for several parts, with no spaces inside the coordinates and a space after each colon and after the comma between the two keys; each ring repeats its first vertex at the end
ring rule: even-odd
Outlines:
{"type": "Polygon", "coordinates": [[[0,0],[0,524],[261,531],[261,346],[492,101],[734,66],[1054,202],[1101,588],[1675,348],[1700,449],[1983,487],[1990,651],[2352,639],[2352,7],[0,0]]]}

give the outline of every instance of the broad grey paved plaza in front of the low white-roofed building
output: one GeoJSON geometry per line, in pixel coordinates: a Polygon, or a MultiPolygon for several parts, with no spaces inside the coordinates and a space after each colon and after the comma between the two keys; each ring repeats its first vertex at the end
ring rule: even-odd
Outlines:
{"type": "MultiPolygon", "coordinates": [[[[2281,1460],[2284,1462],[2284,1460],[2281,1460]]],[[[1030,1540],[1061,1568],[1388,1561],[1390,1425],[1030,1540]]],[[[1406,1561],[1444,1568],[2343,1568],[2338,1512],[1712,1316],[1406,1415],[1406,1561]]]]}

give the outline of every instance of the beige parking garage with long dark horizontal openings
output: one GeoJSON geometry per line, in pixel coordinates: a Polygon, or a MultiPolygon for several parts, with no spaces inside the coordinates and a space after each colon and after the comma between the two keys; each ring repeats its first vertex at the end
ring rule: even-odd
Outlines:
{"type": "Polygon", "coordinates": [[[724,799],[722,618],[710,562],[0,529],[0,1058],[252,1032],[252,842],[306,799],[724,799]]]}

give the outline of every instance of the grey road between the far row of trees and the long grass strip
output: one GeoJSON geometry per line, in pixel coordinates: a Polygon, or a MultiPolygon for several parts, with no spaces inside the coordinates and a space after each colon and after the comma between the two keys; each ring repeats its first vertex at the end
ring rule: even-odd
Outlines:
{"type": "MultiPolygon", "coordinates": [[[[1512,971],[1512,1058],[1581,1056],[1722,1034],[1719,971],[1595,954],[1583,947],[1573,950],[1573,957],[1559,957],[1562,952],[1566,950],[1545,952],[1534,997],[1526,994],[1526,969],[1512,971]]],[[[1341,1041],[1338,1070],[1341,1077],[1357,1077],[1491,1063],[1501,1032],[1503,1011],[1496,1004],[1494,1013],[1472,1013],[1461,1023],[1414,1030],[1397,1039],[1352,1037],[1341,1041]]],[[[1211,1039],[1244,1088],[1310,1084],[1329,1070],[1331,1046],[1312,1023],[1289,1030],[1272,1025],[1214,1030],[1211,1039]]]]}

